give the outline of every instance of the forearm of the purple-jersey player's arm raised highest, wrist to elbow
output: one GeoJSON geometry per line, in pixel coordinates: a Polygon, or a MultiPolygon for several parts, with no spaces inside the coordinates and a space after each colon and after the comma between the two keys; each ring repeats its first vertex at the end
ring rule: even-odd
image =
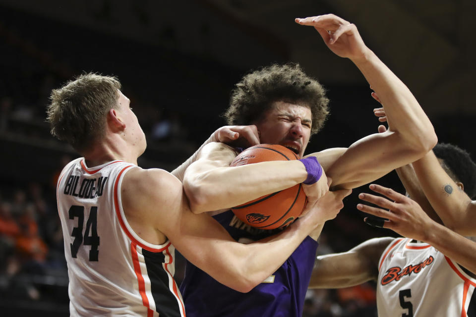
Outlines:
{"type": "Polygon", "coordinates": [[[422,154],[429,151],[437,142],[436,134],[407,86],[370,50],[353,62],[381,100],[389,130],[422,154]]]}

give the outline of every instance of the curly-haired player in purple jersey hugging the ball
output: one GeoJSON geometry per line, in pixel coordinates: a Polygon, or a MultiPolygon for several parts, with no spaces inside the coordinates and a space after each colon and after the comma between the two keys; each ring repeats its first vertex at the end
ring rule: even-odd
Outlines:
{"type": "MultiPolygon", "coordinates": [[[[332,52],[356,64],[382,100],[390,126],[385,133],[369,135],[349,149],[328,149],[304,158],[318,159],[332,179],[332,187],[350,189],[368,183],[421,158],[436,144],[431,122],[412,93],[364,45],[355,25],[333,14],[296,22],[313,26],[332,52]]],[[[300,158],[326,115],[327,98],[320,84],[298,65],[289,64],[244,76],[226,112],[230,124],[254,124],[261,143],[283,145],[300,158]]],[[[263,184],[273,183],[278,191],[303,182],[305,177],[299,161],[229,167],[236,155],[235,149],[225,145],[206,145],[185,171],[184,189],[193,212],[215,211],[214,217],[225,229],[237,241],[247,243],[274,232],[250,228],[229,209],[249,201],[250,192],[261,194],[263,184]]],[[[314,204],[319,194],[308,186],[303,185],[309,204],[314,204]]],[[[246,294],[188,263],[181,291],[189,317],[300,317],[321,229],[314,230],[278,270],[246,294]]]]}

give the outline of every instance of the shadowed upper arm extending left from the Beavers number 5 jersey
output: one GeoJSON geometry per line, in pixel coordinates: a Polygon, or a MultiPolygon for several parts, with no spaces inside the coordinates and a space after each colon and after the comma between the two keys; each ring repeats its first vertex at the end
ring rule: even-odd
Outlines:
{"type": "Polygon", "coordinates": [[[316,258],[309,288],[341,288],[376,280],[378,261],[393,238],[375,238],[343,253],[316,258]]]}

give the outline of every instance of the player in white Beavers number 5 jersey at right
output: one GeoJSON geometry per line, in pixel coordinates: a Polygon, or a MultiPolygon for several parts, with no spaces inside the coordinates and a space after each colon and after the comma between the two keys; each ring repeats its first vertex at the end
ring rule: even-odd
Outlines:
{"type": "MultiPolygon", "coordinates": [[[[455,188],[464,187],[461,180],[468,181],[465,173],[476,175],[476,165],[461,149],[437,145],[434,151],[446,158],[440,160],[444,170],[432,152],[422,160],[434,159],[446,181],[448,174],[454,177],[454,181],[449,179],[455,188]],[[453,170],[456,168],[450,166],[455,164],[468,168],[453,170]]],[[[439,219],[432,209],[433,202],[428,203],[419,187],[422,175],[416,178],[411,165],[397,171],[407,191],[425,211],[414,200],[379,185],[370,185],[370,189],[391,201],[369,194],[360,194],[359,198],[389,211],[364,204],[357,205],[357,209],[387,218],[387,221],[368,218],[366,221],[407,238],[371,239],[348,252],[320,256],[309,287],[340,288],[376,280],[377,310],[381,317],[473,316],[476,314],[476,243],[435,221],[439,219]]],[[[476,184],[466,187],[471,195],[475,194],[476,184]]],[[[445,195],[440,193],[438,200],[446,200],[445,195]]],[[[456,202],[455,206],[458,206],[456,202]]]]}

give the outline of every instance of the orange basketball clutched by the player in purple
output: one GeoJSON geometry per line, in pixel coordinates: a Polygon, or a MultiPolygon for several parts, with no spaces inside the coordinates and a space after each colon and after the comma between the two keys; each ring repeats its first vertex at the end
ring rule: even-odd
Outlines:
{"type": "MultiPolygon", "coordinates": [[[[258,144],[241,152],[230,164],[240,166],[271,160],[292,160],[297,155],[281,145],[258,144]]],[[[306,206],[302,184],[265,195],[232,208],[244,223],[260,229],[281,228],[292,223],[306,206]]]]}

